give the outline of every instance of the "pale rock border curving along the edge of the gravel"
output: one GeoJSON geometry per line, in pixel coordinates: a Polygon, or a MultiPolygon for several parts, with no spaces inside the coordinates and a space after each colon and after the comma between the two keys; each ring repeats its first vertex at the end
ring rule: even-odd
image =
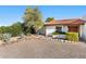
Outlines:
{"type": "Polygon", "coordinates": [[[38,35],[38,36],[24,36],[23,38],[12,37],[9,42],[4,42],[4,41],[0,40],[0,44],[14,43],[14,42],[19,42],[19,41],[21,41],[23,39],[24,40],[27,40],[27,39],[33,39],[34,40],[35,38],[36,39],[48,40],[48,41],[51,41],[51,42],[53,42],[53,41],[69,42],[69,43],[78,43],[79,42],[79,41],[70,41],[70,40],[63,40],[63,39],[58,39],[58,38],[52,38],[52,37],[48,37],[48,36],[38,35]]]}

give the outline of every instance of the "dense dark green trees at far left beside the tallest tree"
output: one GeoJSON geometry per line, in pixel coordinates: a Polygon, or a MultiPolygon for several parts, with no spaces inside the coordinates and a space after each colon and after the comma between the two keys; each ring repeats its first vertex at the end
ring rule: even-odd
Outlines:
{"type": "Polygon", "coordinates": [[[22,23],[17,22],[12,24],[11,26],[1,26],[0,27],[0,34],[12,34],[12,36],[19,36],[21,33],[23,33],[23,26],[22,23]]]}

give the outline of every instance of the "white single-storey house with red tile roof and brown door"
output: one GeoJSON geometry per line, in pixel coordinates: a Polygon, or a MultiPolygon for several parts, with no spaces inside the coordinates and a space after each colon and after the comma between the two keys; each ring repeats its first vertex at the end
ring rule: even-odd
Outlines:
{"type": "Polygon", "coordinates": [[[45,23],[42,28],[46,36],[52,34],[53,31],[72,31],[78,33],[79,38],[86,39],[86,21],[81,18],[72,18],[72,20],[59,20],[59,21],[50,21],[45,23]]]}

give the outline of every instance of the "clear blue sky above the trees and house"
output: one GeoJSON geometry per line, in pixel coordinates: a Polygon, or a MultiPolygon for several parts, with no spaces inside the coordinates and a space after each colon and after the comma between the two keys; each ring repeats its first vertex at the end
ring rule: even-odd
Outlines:
{"type": "MultiPolygon", "coordinates": [[[[0,5],[0,26],[23,22],[26,5],[0,5]]],[[[86,5],[38,5],[42,21],[47,17],[56,20],[77,18],[86,15],[86,5]]]]}

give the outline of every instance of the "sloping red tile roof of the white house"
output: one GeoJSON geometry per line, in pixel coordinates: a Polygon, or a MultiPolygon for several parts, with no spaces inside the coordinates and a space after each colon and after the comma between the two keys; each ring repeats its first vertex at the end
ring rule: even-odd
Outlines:
{"type": "Polygon", "coordinates": [[[72,18],[72,20],[59,20],[59,21],[51,21],[46,23],[45,25],[72,25],[72,24],[84,24],[86,21],[79,18],[72,18]]]}

